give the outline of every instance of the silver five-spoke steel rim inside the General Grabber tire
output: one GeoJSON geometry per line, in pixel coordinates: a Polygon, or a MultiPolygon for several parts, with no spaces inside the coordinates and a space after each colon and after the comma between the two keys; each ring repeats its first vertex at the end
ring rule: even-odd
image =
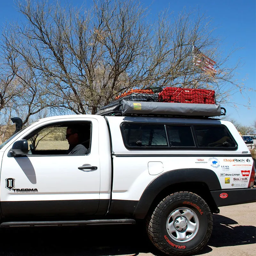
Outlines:
{"type": "Polygon", "coordinates": [[[175,241],[184,243],[192,240],[199,230],[199,219],[195,211],[187,207],[173,210],[166,220],[168,235],[175,241]]]}

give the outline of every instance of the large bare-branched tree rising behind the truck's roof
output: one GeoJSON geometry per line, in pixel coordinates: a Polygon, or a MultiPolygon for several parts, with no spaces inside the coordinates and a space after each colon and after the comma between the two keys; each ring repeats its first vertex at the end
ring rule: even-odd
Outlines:
{"type": "Polygon", "coordinates": [[[130,88],[214,89],[222,103],[244,92],[234,79],[239,63],[227,66],[230,55],[221,57],[221,44],[199,13],[174,17],[167,10],[150,22],[135,0],[99,0],[88,10],[27,0],[18,8],[27,21],[7,27],[4,44],[33,72],[21,79],[32,90],[29,99],[35,85],[44,92],[32,113],[46,105],[94,114],[130,88]],[[214,76],[194,65],[193,44],[216,61],[214,76]]]}

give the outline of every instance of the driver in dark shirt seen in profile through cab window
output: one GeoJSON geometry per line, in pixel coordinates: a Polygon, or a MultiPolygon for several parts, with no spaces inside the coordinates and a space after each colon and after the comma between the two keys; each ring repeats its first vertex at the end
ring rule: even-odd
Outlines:
{"type": "Polygon", "coordinates": [[[68,126],[66,139],[68,140],[69,148],[68,155],[86,155],[87,149],[81,144],[83,131],[76,126],[68,126]]]}

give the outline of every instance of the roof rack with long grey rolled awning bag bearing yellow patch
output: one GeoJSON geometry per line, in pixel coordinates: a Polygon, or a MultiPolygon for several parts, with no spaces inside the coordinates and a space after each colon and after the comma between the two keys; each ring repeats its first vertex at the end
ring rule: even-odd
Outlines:
{"type": "Polygon", "coordinates": [[[174,102],[143,102],[120,100],[114,106],[105,106],[96,113],[100,116],[172,116],[205,118],[225,116],[220,104],[196,104],[174,102]]]}

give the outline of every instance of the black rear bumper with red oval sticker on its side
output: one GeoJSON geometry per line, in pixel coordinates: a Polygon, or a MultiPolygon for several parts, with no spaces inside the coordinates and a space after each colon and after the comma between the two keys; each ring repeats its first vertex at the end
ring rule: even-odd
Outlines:
{"type": "Polygon", "coordinates": [[[256,201],[256,188],[214,190],[211,191],[211,194],[217,207],[253,203],[256,201]],[[227,197],[223,194],[227,194],[227,197]]]}

